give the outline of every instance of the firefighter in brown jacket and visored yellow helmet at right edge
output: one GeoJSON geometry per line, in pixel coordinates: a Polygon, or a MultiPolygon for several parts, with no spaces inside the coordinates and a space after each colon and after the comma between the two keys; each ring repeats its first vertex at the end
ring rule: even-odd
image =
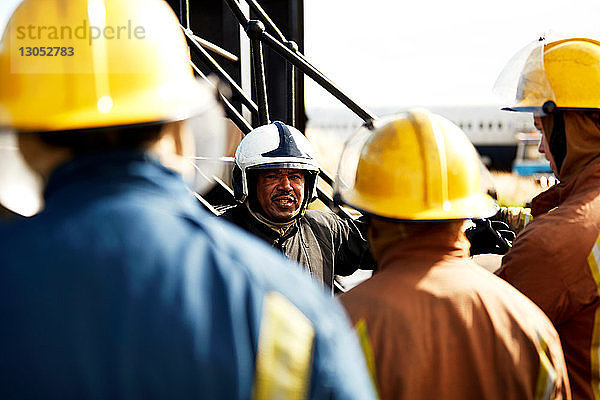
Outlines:
{"type": "Polygon", "coordinates": [[[498,274],[556,326],[576,399],[600,396],[599,71],[600,42],[541,39],[515,56],[497,87],[512,94],[509,110],[533,113],[539,150],[560,180],[531,202],[533,220],[498,274]]]}

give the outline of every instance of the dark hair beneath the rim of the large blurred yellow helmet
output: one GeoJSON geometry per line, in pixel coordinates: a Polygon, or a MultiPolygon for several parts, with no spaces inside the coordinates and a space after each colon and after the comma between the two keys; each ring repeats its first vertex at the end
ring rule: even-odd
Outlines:
{"type": "Polygon", "coordinates": [[[164,124],[117,126],[54,132],[22,132],[36,135],[49,146],[70,150],[73,155],[115,150],[140,150],[160,138],[164,124]]]}

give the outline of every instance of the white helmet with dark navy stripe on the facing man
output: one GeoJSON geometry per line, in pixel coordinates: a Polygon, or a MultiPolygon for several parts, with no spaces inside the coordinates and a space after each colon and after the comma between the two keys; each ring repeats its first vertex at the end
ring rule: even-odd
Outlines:
{"type": "Polygon", "coordinates": [[[243,203],[248,198],[248,188],[252,186],[248,183],[249,171],[276,168],[307,171],[302,207],[316,198],[319,165],[312,145],[298,129],[275,121],[253,129],[235,152],[232,183],[236,200],[243,203]]]}

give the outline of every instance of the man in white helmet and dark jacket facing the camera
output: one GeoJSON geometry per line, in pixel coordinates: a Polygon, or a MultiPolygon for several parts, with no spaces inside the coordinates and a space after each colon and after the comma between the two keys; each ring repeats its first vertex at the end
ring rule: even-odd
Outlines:
{"type": "Polygon", "coordinates": [[[334,275],[372,269],[357,223],[306,210],[316,198],[319,166],[310,142],[294,127],[273,122],[254,129],[235,153],[233,189],[241,204],[223,217],[302,264],[333,288],[334,275]]]}

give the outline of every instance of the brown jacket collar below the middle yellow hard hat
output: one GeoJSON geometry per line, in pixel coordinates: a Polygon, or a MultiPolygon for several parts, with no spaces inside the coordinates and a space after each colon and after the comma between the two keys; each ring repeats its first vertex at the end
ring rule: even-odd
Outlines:
{"type": "Polygon", "coordinates": [[[445,258],[468,258],[469,241],[461,231],[450,232],[440,226],[425,233],[398,240],[381,252],[377,271],[383,271],[393,265],[399,268],[411,266],[431,266],[445,258]]]}

